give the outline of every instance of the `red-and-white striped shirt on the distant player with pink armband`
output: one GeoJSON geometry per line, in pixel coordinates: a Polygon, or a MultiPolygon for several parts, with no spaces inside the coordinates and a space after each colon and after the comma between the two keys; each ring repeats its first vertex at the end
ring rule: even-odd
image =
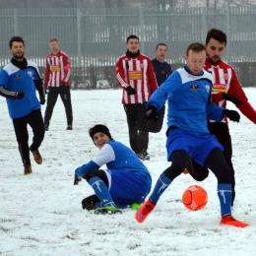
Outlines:
{"type": "Polygon", "coordinates": [[[61,82],[65,83],[65,86],[70,86],[70,63],[69,56],[59,51],[57,55],[50,53],[46,57],[44,73],[44,88],[59,87],[61,82]]]}

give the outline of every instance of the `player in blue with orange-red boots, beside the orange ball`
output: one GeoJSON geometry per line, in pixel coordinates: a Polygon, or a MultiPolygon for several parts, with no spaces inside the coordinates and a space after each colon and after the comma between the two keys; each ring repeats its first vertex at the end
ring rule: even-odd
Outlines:
{"type": "Polygon", "coordinates": [[[207,118],[221,121],[226,116],[238,122],[240,116],[238,112],[212,102],[212,75],[203,70],[205,46],[198,42],[191,43],[187,47],[185,60],[186,66],[173,72],[147,104],[148,118],[157,120],[158,110],[168,100],[166,149],[167,160],[171,161],[171,165],[160,174],[149,200],[137,211],[136,220],[139,223],[146,220],[156,207],[160,195],[182,173],[191,156],[210,168],[217,177],[221,224],[248,226],[231,216],[230,169],[224,160],[223,146],[207,127],[207,118]]]}

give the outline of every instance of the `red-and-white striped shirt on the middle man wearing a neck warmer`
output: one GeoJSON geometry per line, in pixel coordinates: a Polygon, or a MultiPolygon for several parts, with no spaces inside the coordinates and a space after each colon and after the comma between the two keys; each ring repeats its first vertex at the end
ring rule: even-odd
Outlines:
{"type": "Polygon", "coordinates": [[[136,57],[120,56],[116,62],[116,78],[119,86],[123,88],[122,103],[147,102],[151,95],[158,89],[151,59],[139,53],[136,57]],[[126,88],[131,86],[137,92],[129,96],[126,88]]]}

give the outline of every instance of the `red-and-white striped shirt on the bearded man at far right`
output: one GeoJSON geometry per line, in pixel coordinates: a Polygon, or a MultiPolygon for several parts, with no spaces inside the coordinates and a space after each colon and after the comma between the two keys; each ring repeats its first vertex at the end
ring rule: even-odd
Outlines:
{"type": "MultiPolygon", "coordinates": [[[[219,61],[217,64],[213,64],[207,58],[204,69],[209,71],[213,75],[214,87],[212,100],[217,105],[225,108],[226,100],[223,99],[222,93],[237,96],[240,99],[241,104],[236,105],[236,107],[248,119],[256,124],[256,111],[248,102],[248,98],[245,96],[232,66],[228,65],[222,60],[219,61]]],[[[227,123],[226,117],[224,118],[224,121],[227,123]]]]}

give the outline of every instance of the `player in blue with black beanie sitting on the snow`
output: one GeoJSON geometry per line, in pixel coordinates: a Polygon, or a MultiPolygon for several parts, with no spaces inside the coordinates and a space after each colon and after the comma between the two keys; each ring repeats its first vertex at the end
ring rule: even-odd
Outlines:
{"type": "Polygon", "coordinates": [[[74,185],[83,177],[96,194],[82,201],[83,209],[96,214],[120,214],[120,209],[130,206],[138,209],[151,190],[149,170],[132,150],[112,139],[106,126],[97,124],[89,134],[99,152],[76,169],[74,185]],[[107,169],[99,169],[103,164],[107,169]]]}

